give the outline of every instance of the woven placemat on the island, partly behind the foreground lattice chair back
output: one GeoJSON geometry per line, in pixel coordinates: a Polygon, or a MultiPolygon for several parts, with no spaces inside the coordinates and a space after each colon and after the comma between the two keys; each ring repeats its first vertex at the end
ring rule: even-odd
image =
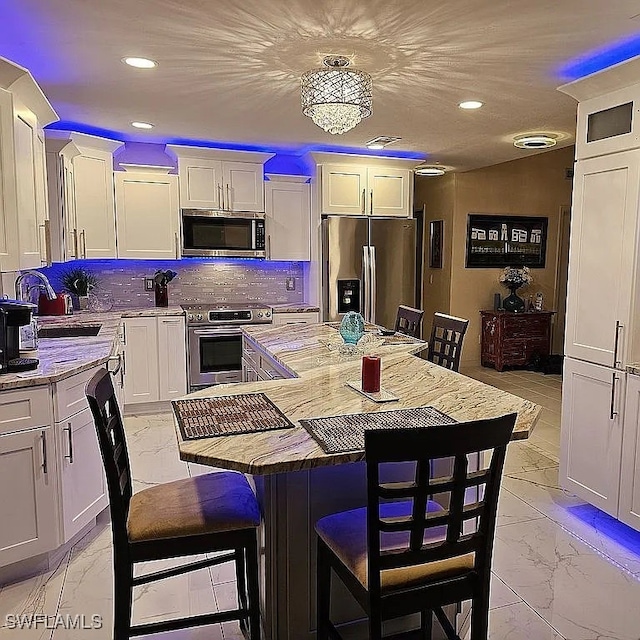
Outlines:
{"type": "Polygon", "coordinates": [[[369,429],[421,429],[455,422],[457,420],[434,407],[352,413],[346,416],[300,420],[300,424],[318,442],[325,453],[363,451],[364,432],[369,429]]]}

